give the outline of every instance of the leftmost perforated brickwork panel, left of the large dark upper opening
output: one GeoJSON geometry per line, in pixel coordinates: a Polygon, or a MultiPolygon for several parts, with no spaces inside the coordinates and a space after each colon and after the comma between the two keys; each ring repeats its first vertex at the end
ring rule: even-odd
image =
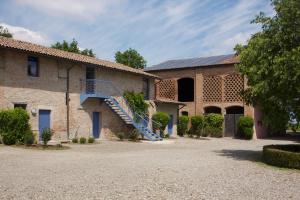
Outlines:
{"type": "Polygon", "coordinates": [[[175,100],[175,80],[166,79],[158,83],[158,95],[159,97],[175,100]]]}

